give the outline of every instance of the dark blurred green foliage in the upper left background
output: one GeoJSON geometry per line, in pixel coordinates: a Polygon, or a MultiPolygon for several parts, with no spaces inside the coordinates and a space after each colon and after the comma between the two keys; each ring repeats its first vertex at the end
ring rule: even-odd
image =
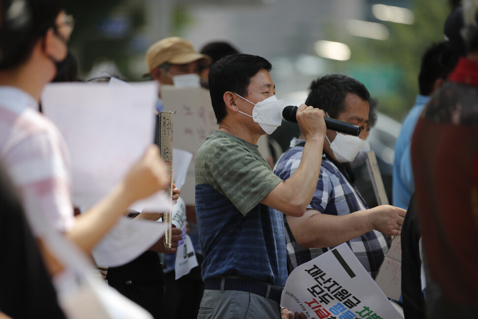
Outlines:
{"type": "MultiPolygon", "coordinates": [[[[147,23],[146,5],[144,0],[65,1],[67,13],[75,19],[69,46],[80,75],[86,76],[99,62],[113,61],[125,79],[141,80],[131,68],[151,44],[144,35],[138,36],[147,23]]],[[[172,5],[171,11],[171,35],[181,35],[193,19],[184,4],[172,5]]]]}

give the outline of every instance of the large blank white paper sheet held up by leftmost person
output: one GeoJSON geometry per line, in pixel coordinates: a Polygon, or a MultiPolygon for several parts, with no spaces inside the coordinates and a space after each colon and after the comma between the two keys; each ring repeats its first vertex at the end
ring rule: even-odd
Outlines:
{"type": "Polygon", "coordinates": [[[155,82],[45,87],[43,112],[68,144],[75,206],[97,203],[152,144],[157,92],[155,82]]]}

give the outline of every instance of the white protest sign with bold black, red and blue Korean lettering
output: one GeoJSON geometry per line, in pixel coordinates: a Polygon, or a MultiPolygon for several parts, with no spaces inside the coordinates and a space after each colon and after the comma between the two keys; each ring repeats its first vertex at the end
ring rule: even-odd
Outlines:
{"type": "Polygon", "coordinates": [[[318,319],[403,319],[347,244],[289,275],[280,305],[318,319]]]}

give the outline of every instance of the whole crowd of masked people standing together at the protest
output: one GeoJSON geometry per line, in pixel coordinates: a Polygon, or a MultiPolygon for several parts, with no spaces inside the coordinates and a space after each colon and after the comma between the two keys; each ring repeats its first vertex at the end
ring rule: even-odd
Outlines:
{"type": "MultiPolygon", "coordinates": [[[[405,317],[475,316],[477,13],[478,1],[465,1],[445,23],[445,41],[424,53],[420,94],[396,145],[393,206],[372,208],[350,166],[373,117],[363,83],[344,74],[312,81],[297,108],[300,135],[271,163],[257,146],[282,121],[271,63],[225,42],[201,52],[180,37],[154,43],[145,61],[146,75],[160,84],[156,111],[163,110],[162,86],[187,81],[209,90],[218,125],[198,145],[195,205],[172,191],[199,266],[175,279],[182,231],[174,227],[171,248],[161,238],[131,262],[104,269],[107,283],[154,318],[306,318],[280,305],[295,268],[346,243],[375,278],[390,237],[402,235],[405,317]],[[326,117],[361,133],[329,129],[326,117]]],[[[2,319],[70,317],[62,282],[74,276],[54,242],[89,256],[120,217],[137,216],[129,210],[134,202],[171,179],[151,141],[114,189],[75,216],[68,147],[40,108],[47,83],[77,80],[72,31],[61,0],[0,0],[0,236],[11,243],[2,247],[9,274],[0,287],[2,319]]]]}

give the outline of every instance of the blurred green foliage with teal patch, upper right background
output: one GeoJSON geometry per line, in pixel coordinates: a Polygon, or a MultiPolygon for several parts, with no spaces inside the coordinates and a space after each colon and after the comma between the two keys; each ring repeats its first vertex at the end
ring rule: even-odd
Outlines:
{"type": "Polygon", "coordinates": [[[342,66],[369,87],[381,112],[399,121],[418,94],[421,56],[432,43],[444,40],[444,21],[451,12],[450,3],[443,0],[415,0],[410,9],[412,25],[381,22],[390,32],[387,40],[354,37],[349,41],[352,55],[342,66]]]}

